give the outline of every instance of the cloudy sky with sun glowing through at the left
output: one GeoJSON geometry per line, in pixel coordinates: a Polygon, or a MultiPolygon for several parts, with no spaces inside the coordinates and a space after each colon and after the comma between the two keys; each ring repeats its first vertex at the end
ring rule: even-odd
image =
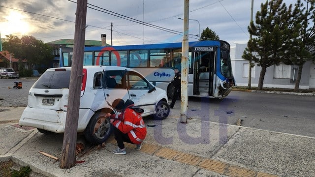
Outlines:
{"type": "MultiPolygon", "coordinates": [[[[266,0],[254,0],[253,18],[266,0]]],[[[297,0],[284,0],[294,4],[297,0]]],[[[1,37],[13,34],[21,37],[32,35],[43,42],[58,39],[73,39],[76,0],[1,0],[1,37]]],[[[252,0],[190,0],[189,41],[198,37],[205,28],[215,31],[221,40],[231,46],[247,43],[247,27],[251,17],[252,0]]],[[[86,40],[100,40],[107,34],[106,43],[111,42],[113,23],[113,45],[152,44],[181,42],[183,36],[184,0],[88,0],[86,40]],[[92,8],[89,8],[92,7],[92,8]],[[99,8],[98,8],[99,7],[99,8]],[[97,10],[95,10],[97,9],[97,10]],[[104,13],[106,12],[106,13],[104,13]],[[124,15],[143,21],[157,28],[144,26],[110,15],[124,15]]]]}

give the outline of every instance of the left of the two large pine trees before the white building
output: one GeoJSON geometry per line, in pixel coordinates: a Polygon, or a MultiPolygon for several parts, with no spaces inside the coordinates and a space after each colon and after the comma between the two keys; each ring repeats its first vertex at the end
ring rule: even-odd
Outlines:
{"type": "Polygon", "coordinates": [[[257,89],[261,90],[267,67],[282,62],[286,56],[287,43],[291,39],[289,29],[292,4],[287,8],[283,0],[261,3],[256,13],[255,24],[251,22],[248,31],[252,34],[243,59],[253,60],[261,66],[257,89]]]}

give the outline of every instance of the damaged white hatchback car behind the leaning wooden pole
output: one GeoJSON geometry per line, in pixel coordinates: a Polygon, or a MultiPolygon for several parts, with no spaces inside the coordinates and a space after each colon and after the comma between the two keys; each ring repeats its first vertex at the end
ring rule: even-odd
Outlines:
{"type": "MultiPolygon", "coordinates": [[[[31,126],[39,132],[64,133],[68,108],[71,67],[50,68],[43,73],[29,91],[28,106],[19,124],[31,126]]],[[[164,119],[170,109],[166,91],[156,88],[139,72],[119,66],[84,66],[81,87],[78,132],[86,140],[103,143],[112,126],[107,113],[117,98],[132,100],[144,110],[143,117],[153,115],[164,119]]]]}

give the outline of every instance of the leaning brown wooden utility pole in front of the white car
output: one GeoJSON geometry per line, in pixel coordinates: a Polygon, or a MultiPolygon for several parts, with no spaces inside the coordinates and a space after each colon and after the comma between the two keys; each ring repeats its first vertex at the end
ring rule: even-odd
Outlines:
{"type": "Polygon", "coordinates": [[[63,135],[63,152],[60,168],[71,168],[76,164],[75,145],[77,141],[80,92],[83,76],[83,55],[88,0],[77,0],[74,29],[73,61],[70,76],[68,109],[63,135]]]}

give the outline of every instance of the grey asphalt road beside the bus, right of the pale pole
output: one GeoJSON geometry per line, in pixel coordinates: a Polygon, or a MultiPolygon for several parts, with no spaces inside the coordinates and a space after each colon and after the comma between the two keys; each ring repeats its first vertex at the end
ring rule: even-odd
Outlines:
{"type": "MultiPolygon", "coordinates": [[[[210,121],[315,137],[315,96],[233,90],[224,99],[190,98],[189,115],[210,121]]],[[[177,105],[176,105],[177,106],[177,105]]],[[[178,106],[177,106],[178,108],[178,106]]]]}

